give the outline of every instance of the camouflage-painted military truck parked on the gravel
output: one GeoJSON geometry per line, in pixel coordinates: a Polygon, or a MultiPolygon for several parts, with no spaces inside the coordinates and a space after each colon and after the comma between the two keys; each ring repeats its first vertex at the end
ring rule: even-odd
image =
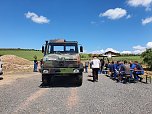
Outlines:
{"type": "MultiPolygon", "coordinates": [[[[80,46],[80,52],[83,47],[80,46]]],[[[73,77],[76,85],[82,85],[83,64],[80,61],[79,45],[77,41],[55,39],[46,41],[42,46],[44,54],[41,73],[44,85],[52,84],[56,76],[73,77]]]]}

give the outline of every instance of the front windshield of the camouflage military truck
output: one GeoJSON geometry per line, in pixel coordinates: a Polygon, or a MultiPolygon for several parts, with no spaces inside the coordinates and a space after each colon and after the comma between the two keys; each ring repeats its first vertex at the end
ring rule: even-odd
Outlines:
{"type": "Polygon", "coordinates": [[[51,44],[48,48],[49,53],[78,53],[77,44],[51,44]]]}

